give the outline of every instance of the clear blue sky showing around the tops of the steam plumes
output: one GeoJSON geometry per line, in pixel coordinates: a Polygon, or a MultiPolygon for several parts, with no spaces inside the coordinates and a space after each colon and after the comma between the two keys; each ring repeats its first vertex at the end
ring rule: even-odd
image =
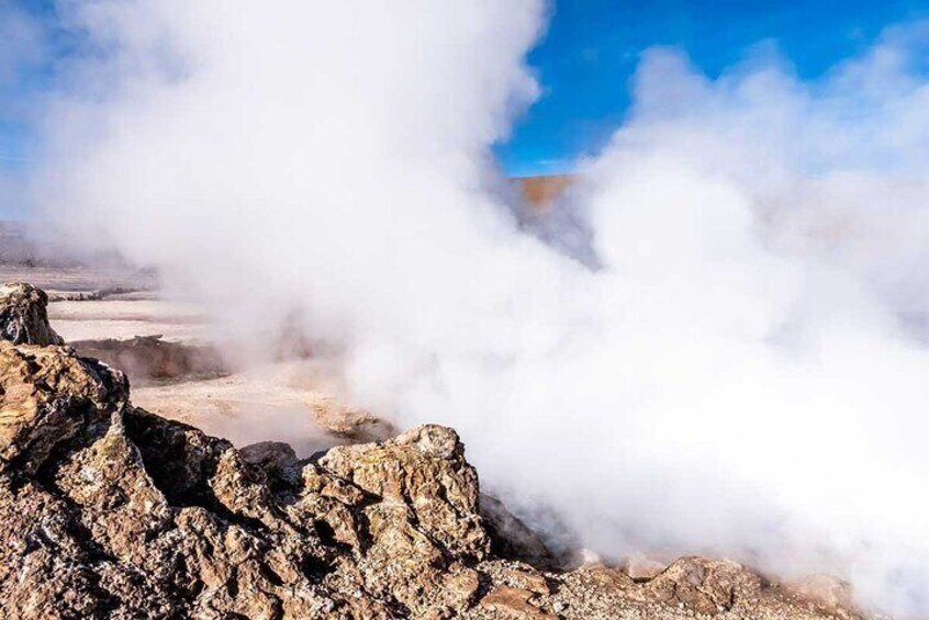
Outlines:
{"type": "MultiPolygon", "coordinates": [[[[27,94],[42,88],[56,49],[15,49],[10,8],[47,13],[51,0],[0,0],[0,171],[30,164],[27,94]],[[5,7],[5,8],[4,8],[5,7]],[[51,49],[51,52],[48,52],[51,49]],[[3,71],[4,61],[20,70],[3,71]]],[[[640,53],[654,45],[687,52],[710,76],[760,42],[773,42],[804,79],[861,52],[889,24],[929,16],[929,0],[555,0],[548,33],[529,56],[542,94],[497,145],[513,176],[570,171],[596,153],[622,123],[629,78],[640,53]]]]}

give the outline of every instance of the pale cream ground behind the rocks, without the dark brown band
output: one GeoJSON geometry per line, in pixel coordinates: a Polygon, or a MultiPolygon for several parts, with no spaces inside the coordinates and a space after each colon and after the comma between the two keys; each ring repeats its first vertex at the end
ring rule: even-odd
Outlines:
{"type": "MultiPolygon", "coordinates": [[[[0,264],[0,283],[12,281],[26,281],[49,293],[52,326],[67,342],[160,335],[170,342],[211,345],[204,314],[192,304],[160,300],[150,275],[0,264]],[[102,301],[54,301],[113,289],[128,292],[102,301]]],[[[237,446],[286,441],[300,455],[309,455],[351,439],[389,433],[383,425],[366,424],[363,414],[340,404],[338,371],[320,360],[268,363],[219,379],[133,384],[136,406],[237,446]]]]}

